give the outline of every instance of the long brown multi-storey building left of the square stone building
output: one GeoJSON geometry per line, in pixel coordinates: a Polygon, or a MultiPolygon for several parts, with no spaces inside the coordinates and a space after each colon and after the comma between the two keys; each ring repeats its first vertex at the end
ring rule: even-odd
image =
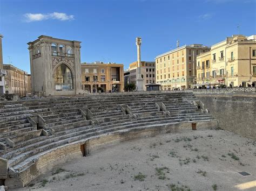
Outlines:
{"type": "Polygon", "coordinates": [[[5,76],[5,93],[6,94],[18,94],[23,97],[26,94],[31,94],[31,84],[29,83],[30,76],[23,70],[4,64],[5,76]]]}

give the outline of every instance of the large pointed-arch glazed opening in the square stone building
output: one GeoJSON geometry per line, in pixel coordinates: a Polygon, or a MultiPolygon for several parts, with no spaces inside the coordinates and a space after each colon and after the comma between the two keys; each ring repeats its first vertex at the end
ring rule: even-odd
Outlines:
{"type": "Polygon", "coordinates": [[[72,72],[68,66],[64,63],[59,65],[54,74],[55,89],[58,91],[73,89],[72,77],[72,72]]]}

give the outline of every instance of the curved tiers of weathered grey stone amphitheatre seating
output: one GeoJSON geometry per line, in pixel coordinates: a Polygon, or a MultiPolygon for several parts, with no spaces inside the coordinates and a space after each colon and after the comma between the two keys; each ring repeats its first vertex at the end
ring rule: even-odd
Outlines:
{"type": "MultiPolygon", "coordinates": [[[[22,177],[21,173],[27,173],[35,161],[47,153],[91,137],[170,124],[215,121],[198,103],[192,93],[0,102],[0,157],[9,166],[6,180],[22,177]]],[[[35,177],[21,178],[23,186],[35,177]]]]}

